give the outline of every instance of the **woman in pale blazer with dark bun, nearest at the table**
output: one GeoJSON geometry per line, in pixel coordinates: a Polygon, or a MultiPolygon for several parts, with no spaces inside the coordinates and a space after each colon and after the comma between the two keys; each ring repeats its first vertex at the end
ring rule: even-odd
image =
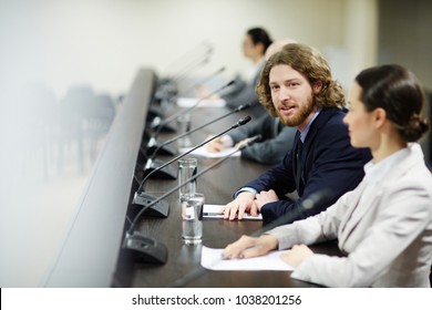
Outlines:
{"type": "Polygon", "coordinates": [[[400,65],[367,69],[356,78],[344,117],[354,147],[369,147],[364,178],[326,211],[244,236],[226,258],[288,249],[292,278],[329,287],[430,287],[432,175],[416,141],[428,131],[415,76],[400,65]],[[313,254],[307,245],[338,239],[347,257],[313,254]]]}

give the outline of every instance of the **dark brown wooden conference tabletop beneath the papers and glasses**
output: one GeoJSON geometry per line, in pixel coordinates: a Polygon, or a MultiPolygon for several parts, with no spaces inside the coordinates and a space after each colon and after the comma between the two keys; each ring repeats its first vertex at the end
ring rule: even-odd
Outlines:
{"type": "MultiPolygon", "coordinates": [[[[191,111],[193,128],[217,116],[224,115],[225,107],[197,107],[191,111]]],[[[171,113],[174,113],[173,111],[171,113]]],[[[217,134],[229,128],[239,118],[247,115],[247,111],[229,115],[228,117],[203,128],[192,135],[194,145],[203,142],[207,135],[217,134]]],[[[254,121],[254,120],[253,120],[254,121]]],[[[253,122],[251,121],[251,122],[253,122]]],[[[251,123],[250,122],[250,123],[251,123]]],[[[166,141],[176,134],[161,134],[158,141],[166,141]]],[[[187,155],[191,156],[191,155],[187,155]]],[[[169,161],[174,156],[157,156],[157,159],[169,161]]],[[[198,170],[208,167],[217,159],[198,158],[198,170]]],[[[177,164],[173,163],[173,167],[177,164]]],[[[220,165],[208,170],[197,179],[197,192],[204,193],[207,204],[226,204],[230,202],[233,193],[247,180],[257,177],[269,166],[260,165],[240,157],[230,157],[220,165]]],[[[145,192],[155,196],[174,188],[176,179],[148,179],[145,192]]],[[[132,195],[136,186],[132,186],[132,195]]],[[[202,246],[224,248],[241,235],[250,235],[263,228],[263,221],[256,220],[224,220],[204,219],[203,242],[200,246],[186,246],[182,242],[182,220],[179,215],[178,193],[166,198],[169,204],[167,218],[150,218],[143,216],[137,230],[148,237],[163,242],[168,249],[168,259],[165,265],[131,262],[120,259],[114,275],[115,287],[316,287],[313,283],[298,281],[290,278],[290,271],[213,271],[200,267],[202,246]]],[[[136,214],[135,206],[130,206],[128,214],[136,214]],[[135,208],[135,209],[134,209],[135,208]]],[[[316,245],[316,252],[340,256],[335,242],[316,245]]]]}

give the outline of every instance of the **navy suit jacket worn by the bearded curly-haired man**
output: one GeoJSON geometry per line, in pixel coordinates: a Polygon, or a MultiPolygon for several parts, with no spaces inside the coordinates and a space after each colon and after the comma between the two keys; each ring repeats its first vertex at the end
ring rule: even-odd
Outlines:
{"type": "Polygon", "coordinates": [[[342,123],[344,113],[338,108],[322,108],[306,136],[302,148],[305,187],[296,188],[294,149],[299,141],[296,134],[292,149],[284,161],[245,187],[260,190],[274,189],[280,200],[263,206],[265,221],[271,221],[290,213],[287,223],[319,214],[332,205],[342,194],[353,189],[363,178],[363,165],[371,159],[367,148],[350,145],[347,126],[342,123]],[[311,209],[302,209],[300,203],[320,189],[328,188],[331,195],[311,209]],[[285,195],[297,189],[299,199],[294,202],[285,195]]]}

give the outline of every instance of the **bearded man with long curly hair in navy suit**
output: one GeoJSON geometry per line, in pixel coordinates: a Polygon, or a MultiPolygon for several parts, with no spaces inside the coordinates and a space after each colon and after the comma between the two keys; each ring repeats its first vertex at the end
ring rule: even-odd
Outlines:
{"type": "Polygon", "coordinates": [[[318,214],[363,177],[371,159],[366,148],[350,145],[344,116],[344,95],[330,68],[316,49],[291,43],[274,54],[263,69],[257,93],[260,103],[286,126],[296,126],[292,149],[282,162],[247,183],[224,208],[226,219],[241,219],[245,211],[263,214],[271,221],[290,213],[290,220],[318,214]],[[300,203],[328,188],[331,195],[305,210],[300,203]],[[286,195],[296,192],[298,199],[286,195]]]}

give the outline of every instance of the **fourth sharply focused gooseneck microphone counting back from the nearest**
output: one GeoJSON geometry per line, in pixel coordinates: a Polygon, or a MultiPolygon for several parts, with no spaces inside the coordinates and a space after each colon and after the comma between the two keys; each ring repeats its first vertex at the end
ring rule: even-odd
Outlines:
{"type": "MultiPolygon", "coordinates": [[[[202,103],[204,100],[207,100],[207,99],[212,97],[213,95],[219,93],[220,91],[223,91],[223,90],[225,90],[226,87],[233,85],[234,83],[235,83],[235,81],[228,82],[227,84],[223,85],[222,87],[217,89],[216,91],[214,91],[214,92],[209,93],[208,95],[206,95],[206,96],[204,96],[204,97],[197,100],[196,103],[194,103],[194,104],[191,105],[189,107],[183,108],[183,110],[178,111],[177,113],[174,113],[174,114],[172,114],[171,116],[164,118],[163,121],[161,120],[161,117],[155,117],[155,118],[153,118],[152,124],[151,124],[151,127],[152,127],[152,128],[155,128],[156,131],[155,131],[153,137],[151,137],[151,138],[148,140],[148,142],[147,142],[147,146],[146,146],[147,154],[148,154],[148,153],[153,153],[153,152],[156,149],[156,147],[157,147],[157,145],[158,145],[156,138],[158,137],[158,135],[160,135],[162,128],[164,128],[165,126],[167,126],[171,122],[173,122],[174,120],[176,120],[178,116],[182,116],[182,115],[184,115],[184,114],[191,112],[192,110],[194,110],[194,108],[195,108],[196,106],[198,106],[199,103],[202,103]]],[[[167,147],[165,147],[165,148],[160,147],[160,148],[158,148],[158,152],[160,152],[160,151],[162,151],[162,153],[167,154],[167,155],[174,155],[174,154],[175,154],[175,151],[174,151],[174,149],[167,148],[167,147]]]]}

